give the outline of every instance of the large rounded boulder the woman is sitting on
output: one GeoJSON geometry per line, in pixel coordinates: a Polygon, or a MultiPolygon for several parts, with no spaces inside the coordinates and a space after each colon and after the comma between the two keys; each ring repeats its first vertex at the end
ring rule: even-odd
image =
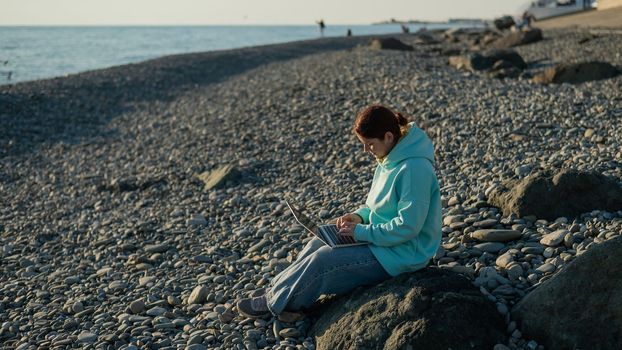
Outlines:
{"type": "Polygon", "coordinates": [[[460,274],[403,274],[318,306],[317,349],[492,349],[506,340],[495,305],[460,274]]]}

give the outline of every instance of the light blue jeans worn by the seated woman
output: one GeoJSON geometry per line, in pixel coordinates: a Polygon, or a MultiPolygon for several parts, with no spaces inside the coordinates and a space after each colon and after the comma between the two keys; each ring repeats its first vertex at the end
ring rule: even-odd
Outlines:
{"type": "Polygon", "coordinates": [[[268,309],[277,316],[311,306],[322,294],[345,294],[391,278],[367,245],[331,249],[313,238],[296,261],[266,288],[268,309]]]}

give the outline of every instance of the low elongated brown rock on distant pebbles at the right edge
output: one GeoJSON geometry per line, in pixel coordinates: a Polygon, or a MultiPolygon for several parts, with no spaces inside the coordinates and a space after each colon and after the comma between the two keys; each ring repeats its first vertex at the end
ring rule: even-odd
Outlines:
{"type": "Polygon", "coordinates": [[[616,77],[620,70],[607,62],[560,64],[536,75],[533,80],[541,84],[581,84],[592,80],[616,77]]]}

